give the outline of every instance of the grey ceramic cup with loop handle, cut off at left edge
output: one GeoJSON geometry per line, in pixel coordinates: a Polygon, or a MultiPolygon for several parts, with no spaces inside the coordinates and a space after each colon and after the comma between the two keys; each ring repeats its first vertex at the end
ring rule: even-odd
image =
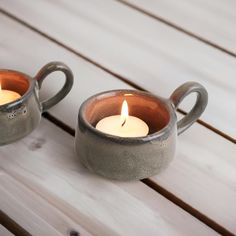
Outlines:
{"type": "Polygon", "coordinates": [[[0,70],[2,89],[21,94],[21,98],[0,105],[0,146],[12,143],[33,131],[40,122],[42,112],[61,101],[73,85],[71,70],[61,62],[45,65],[38,74],[30,76],[13,70],[0,70]],[[40,102],[39,89],[46,76],[54,71],[62,71],[65,76],[63,88],[52,98],[40,102]]]}

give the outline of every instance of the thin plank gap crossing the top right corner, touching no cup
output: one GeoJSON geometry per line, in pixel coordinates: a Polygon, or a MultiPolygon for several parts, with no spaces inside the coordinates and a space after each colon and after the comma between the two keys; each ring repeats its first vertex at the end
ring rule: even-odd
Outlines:
{"type": "Polygon", "coordinates": [[[145,14],[145,15],[147,15],[147,16],[149,16],[149,17],[151,17],[151,18],[153,18],[153,19],[155,19],[157,21],[160,21],[160,22],[162,22],[162,23],[164,23],[164,24],[166,24],[166,25],[168,25],[168,26],[170,26],[170,27],[172,27],[172,28],[174,28],[174,29],[184,33],[184,34],[187,34],[188,36],[190,36],[192,38],[195,38],[195,39],[197,39],[197,40],[199,40],[199,41],[201,41],[203,43],[206,43],[209,46],[217,48],[221,52],[227,53],[228,55],[230,55],[232,57],[236,57],[236,54],[234,52],[231,52],[230,50],[228,50],[228,49],[226,49],[224,47],[221,47],[220,45],[218,45],[218,44],[216,44],[214,42],[211,42],[211,41],[209,41],[209,40],[207,40],[207,39],[205,39],[205,38],[203,38],[203,37],[201,37],[199,35],[196,35],[193,32],[191,32],[189,30],[186,30],[186,29],[182,28],[181,26],[176,25],[175,23],[170,22],[170,21],[168,21],[168,20],[166,20],[166,19],[164,19],[164,18],[162,18],[162,17],[160,17],[160,16],[158,16],[156,14],[153,14],[153,13],[151,13],[149,11],[146,11],[146,10],[142,9],[141,7],[138,7],[135,4],[126,2],[125,0],[115,0],[115,1],[117,1],[117,2],[119,2],[121,4],[124,4],[127,7],[130,7],[130,8],[132,8],[132,9],[138,11],[138,12],[141,12],[141,13],[143,13],[143,14],[145,14]]]}

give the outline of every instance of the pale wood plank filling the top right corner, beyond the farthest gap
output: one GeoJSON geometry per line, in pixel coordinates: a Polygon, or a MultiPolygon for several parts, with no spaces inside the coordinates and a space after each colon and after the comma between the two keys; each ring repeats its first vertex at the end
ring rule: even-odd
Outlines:
{"type": "Polygon", "coordinates": [[[234,0],[125,0],[236,53],[234,0]]]}

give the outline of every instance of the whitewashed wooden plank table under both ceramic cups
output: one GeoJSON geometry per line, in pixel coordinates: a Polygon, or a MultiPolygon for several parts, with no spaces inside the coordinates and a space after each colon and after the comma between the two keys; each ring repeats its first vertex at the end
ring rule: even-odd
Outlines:
{"type": "MultiPolygon", "coordinates": [[[[0,7],[1,68],[35,75],[59,60],[75,76],[37,130],[0,147],[0,235],[236,234],[235,1],[1,0],[0,7]],[[73,136],[87,97],[116,88],[168,97],[189,80],[208,89],[209,105],[179,136],[166,171],[118,182],[80,164],[73,136]]],[[[50,77],[42,99],[63,83],[60,73],[50,77]]]]}

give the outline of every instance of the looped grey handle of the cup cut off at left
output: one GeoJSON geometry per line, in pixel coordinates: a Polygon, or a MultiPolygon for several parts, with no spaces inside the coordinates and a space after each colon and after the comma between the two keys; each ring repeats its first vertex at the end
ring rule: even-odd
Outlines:
{"type": "Polygon", "coordinates": [[[55,71],[61,71],[65,74],[65,84],[55,96],[41,103],[42,112],[48,110],[49,108],[60,102],[70,92],[73,85],[74,79],[71,69],[62,62],[54,61],[46,64],[35,76],[35,79],[38,81],[39,89],[41,88],[44,79],[50,73],[55,71]]]}

